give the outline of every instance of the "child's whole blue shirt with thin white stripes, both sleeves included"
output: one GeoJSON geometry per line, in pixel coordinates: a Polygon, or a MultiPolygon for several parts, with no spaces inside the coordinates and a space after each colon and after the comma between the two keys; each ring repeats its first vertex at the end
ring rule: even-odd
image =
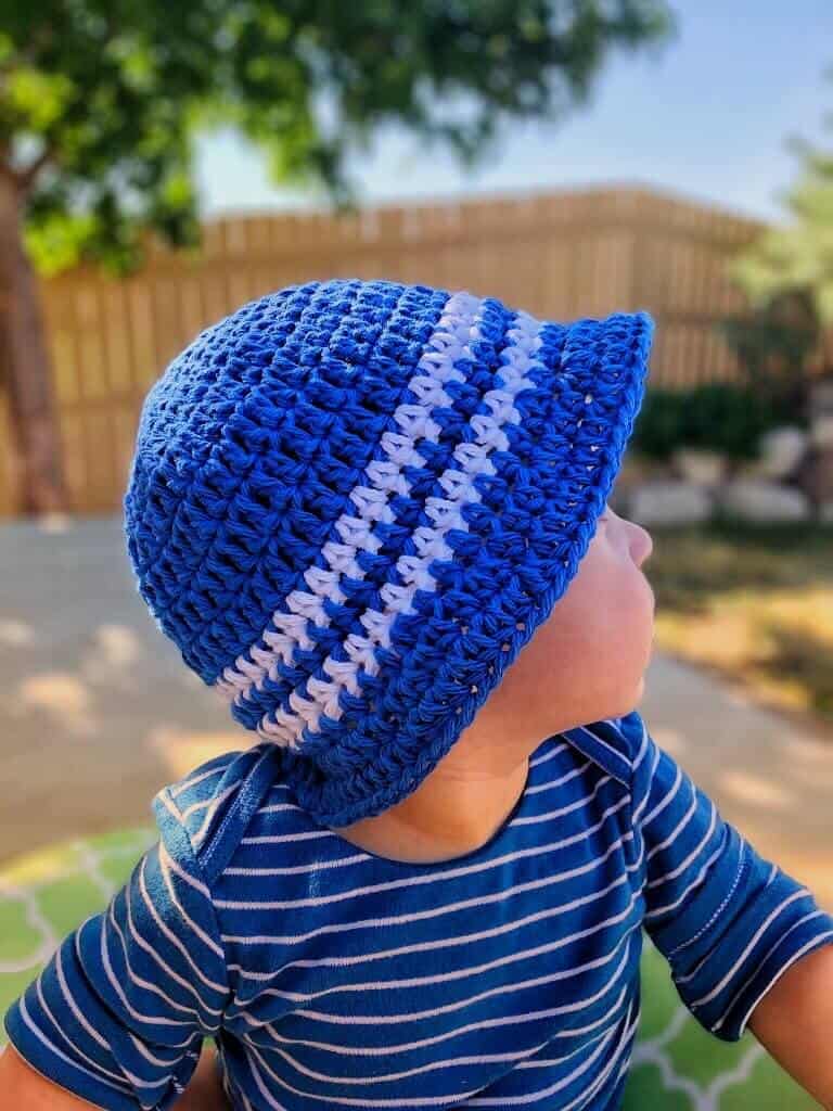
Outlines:
{"type": "Polygon", "coordinates": [[[273,752],[157,797],[159,842],[7,1014],[39,1072],[113,1111],[165,1109],[209,1037],[240,1111],[613,1111],[643,928],[726,1041],[833,940],[635,711],[543,741],[501,828],[441,863],[315,824],[273,752]]]}

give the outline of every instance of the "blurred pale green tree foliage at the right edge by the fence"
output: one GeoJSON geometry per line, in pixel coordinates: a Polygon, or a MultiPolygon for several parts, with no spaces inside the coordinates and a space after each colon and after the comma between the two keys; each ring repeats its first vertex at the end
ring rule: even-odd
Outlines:
{"type": "MultiPolygon", "coordinates": [[[[833,69],[827,78],[833,80],[833,69]]],[[[833,129],[833,113],[826,122],[833,129]]],[[[800,137],[787,144],[803,160],[797,183],[782,198],[792,223],[767,229],[731,273],[759,309],[777,294],[806,292],[826,327],[833,324],[833,150],[821,151],[800,137]]]]}

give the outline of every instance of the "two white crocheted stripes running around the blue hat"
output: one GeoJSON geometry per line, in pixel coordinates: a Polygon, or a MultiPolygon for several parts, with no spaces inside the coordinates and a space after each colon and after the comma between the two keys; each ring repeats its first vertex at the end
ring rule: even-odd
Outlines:
{"type": "MultiPolygon", "coordinates": [[[[351,501],[359,508],[359,517],[342,514],[337,522],[337,529],[344,543],[329,541],[323,548],[323,554],[330,564],[330,571],[311,568],[304,572],[304,579],[314,593],[293,591],[287,604],[293,613],[278,611],[272,622],[278,633],[267,630],[263,640],[271,651],[265,652],[257,645],[250,651],[255,660],[237,661],[235,672],[227,668],[224,680],[218,687],[242,704],[252,685],[259,685],[262,678],[270,673],[280,657],[285,662],[293,659],[293,648],[300,643],[311,648],[313,642],[308,635],[308,621],[314,620],[319,625],[329,623],[323,610],[322,598],[329,597],[343,601],[344,595],[338,587],[341,573],[363,578],[364,572],[355,562],[359,549],[378,551],[381,542],[372,534],[375,520],[391,522],[395,520],[387,504],[388,496],[395,490],[408,493],[410,483],[402,474],[405,464],[421,466],[424,460],[415,450],[419,439],[431,439],[436,442],[439,426],[432,420],[431,413],[438,406],[451,404],[451,399],[442,389],[442,383],[454,379],[463,381],[464,376],[454,369],[454,362],[461,356],[471,357],[468,347],[470,340],[480,337],[483,301],[469,293],[455,293],[446,303],[434,334],[429,340],[428,348],[419,362],[419,373],[409,383],[416,394],[418,403],[400,406],[394,412],[394,420],[402,429],[401,433],[384,433],[382,447],[390,462],[373,461],[367,468],[372,487],[358,487],[350,494],[351,501]],[[241,665],[242,664],[242,665],[241,665]]],[[[419,554],[403,554],[397,562],[397,571],[403,584],[384,583],[380,594],[385,602],[383,611],[368,609],[361,614],[360,621],[367,630],[367,635],[350,633],[344,641],[344,652],[349,660],[334,660],[332,657],[323,662],[322,668],[332,681],[311,677],[307,681],[304,698],[293,691],[289,704],[294,712],[287,712],[278,707],[265,714],[258,727],[258,732],[277,743],[297,747],[303,729],[309,725],[315,730],[322,712],[333,720],[341,718],[343,711],[339,704],[339,693],[342,689],[352,694],[360,694],[358,682],[359,668],[363,667],[368,674],[375,674],[379,663],[375,657],[378,644],[390,647],[390,629],[400,612],[413,612],[411,601],[416,590],[435,590],[436,581],[429,572],[429,564],[434,559],[451,559],[453,550],[445,543],[444,536],[449,529],[468,531],[468,523],[461,516],[461,507],[466,502],[480,501],[480,493],[474,487],[474,477],[479,473],[493,474],[494,466],[489,454],[494,448],[505,450],[509,446],[503,426],[518,423],[520,413],[514,408],[514,396],[529,389],[534,382],[524,377],[533,367],[534,352],[541,347],[539,332],[542,324],[529,313],[518,312],[513,327],[508,330],[510,346],[502,352],[500,369],[501,384],[489,390],[483,396],[483,402],[490,413],[475,413],[470,420],[474,432],[474,442],[461,442],[454,449],[453,458],[456,467],[446,469],[439,482],[445,491],[445,498],[429,497],[425,501],[425,513],[433,526],[420,526],[412,541],[419,554]]],[[[272,672],[277,677],[277,672],[272,672]]]]}

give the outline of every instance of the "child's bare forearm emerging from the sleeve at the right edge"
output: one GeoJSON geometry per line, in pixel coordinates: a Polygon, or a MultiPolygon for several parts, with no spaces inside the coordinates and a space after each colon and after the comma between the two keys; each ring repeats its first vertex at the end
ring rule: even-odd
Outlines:
{"type": "Polygon", "coordinates": [[[833,1109],[833,944],[791,965],[754,1009],[749,1025],[802,1088],[833,1109]]]}

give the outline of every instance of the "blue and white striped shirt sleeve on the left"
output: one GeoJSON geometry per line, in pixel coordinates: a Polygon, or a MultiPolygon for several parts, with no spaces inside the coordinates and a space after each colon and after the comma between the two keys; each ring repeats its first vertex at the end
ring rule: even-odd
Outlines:
{"type": "Polygon", "coordinates": [[[169,789],[154,809],[159,841],[6,1015],[33,1069],[112,1111],[172,1107],[228,999],[213,903],[169,789]]]}

